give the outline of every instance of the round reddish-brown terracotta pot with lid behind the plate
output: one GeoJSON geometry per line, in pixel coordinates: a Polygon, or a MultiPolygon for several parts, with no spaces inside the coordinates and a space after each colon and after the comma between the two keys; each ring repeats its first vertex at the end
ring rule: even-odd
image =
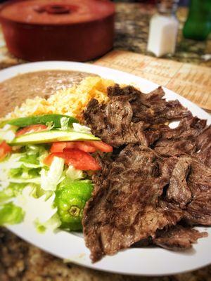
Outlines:
{"type": "Polygon", "coordinates": [[[85,61],[113,48],[114,15],[106,0],[16,0],[1,6],[0,22],[18,58],[85,61]]]}

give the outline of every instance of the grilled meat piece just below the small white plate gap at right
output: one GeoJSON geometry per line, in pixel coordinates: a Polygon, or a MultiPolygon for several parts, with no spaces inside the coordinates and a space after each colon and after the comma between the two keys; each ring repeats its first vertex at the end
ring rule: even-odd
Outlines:
{"type": "Polygon", "coordinates": [[[162,137],[155,144],[155,151],[163,156],[191,155],[197,150],[196,139],[206,126],[206,120],[198,117],[186,117],[179,126],[170,129],[169,126],[160,127],[162,137]]]}

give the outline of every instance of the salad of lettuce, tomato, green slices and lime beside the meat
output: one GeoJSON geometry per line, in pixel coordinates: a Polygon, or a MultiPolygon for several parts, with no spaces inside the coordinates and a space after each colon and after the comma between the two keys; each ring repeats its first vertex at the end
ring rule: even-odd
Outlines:
{"type": "Polygon", "coordinates": [[[39,232],[82,230],[96,152],[113,148],[68,115],[8,119],[0,129],[0,225],[31,221],[39,232]]]}

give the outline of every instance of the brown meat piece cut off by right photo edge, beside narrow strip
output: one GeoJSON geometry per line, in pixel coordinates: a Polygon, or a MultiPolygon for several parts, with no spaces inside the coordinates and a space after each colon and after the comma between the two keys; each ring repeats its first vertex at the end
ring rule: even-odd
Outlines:
{"type": "Polygon", "coordinates": [[[190,224],[211,226],[211,168],[192,159],[187,183],[192,200],[186,205],[184,218],[190,224]]]}

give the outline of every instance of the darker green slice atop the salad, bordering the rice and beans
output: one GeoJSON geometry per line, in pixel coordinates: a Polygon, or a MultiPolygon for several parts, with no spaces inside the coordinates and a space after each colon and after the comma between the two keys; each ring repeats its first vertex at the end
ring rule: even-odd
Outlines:
{"type": "Polygon", "coordinates": [[[37,115],[37,116],[29,116],[29,117],[22,117],[17,119],[11,119],[7,121],[7,124],[18,126],[18,127],[25,127],[35,124],[48,124],[53,123],[54,128],[60,128],[61,122],[60,120],[62,118],[68,118],[68,125],[70,126],[72,123],[78,123],[77,119],[70,117],[68,115],[57,115],[57,114],[51,114],[51,115],[37,115]]]}

